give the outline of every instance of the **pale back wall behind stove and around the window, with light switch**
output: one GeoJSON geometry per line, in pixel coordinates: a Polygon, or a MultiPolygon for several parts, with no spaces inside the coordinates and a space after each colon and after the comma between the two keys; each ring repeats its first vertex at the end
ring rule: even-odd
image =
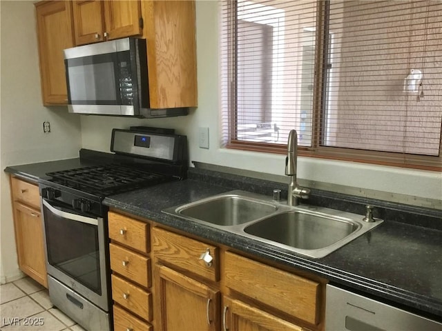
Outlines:
{"type": "MultiPolygon", "coordinates": [[[[197,1],[198,109],[187,117],[121,119],[81,117],[82,146],[108,151],[112,128],[131,125],[176,128],[187,134],[190,159],[269,174],[284,174],[285,156],[220,148],[218,97],[218,2],[197,1]],[[209,150],[198,148],[198,127],[209,127],[209,150]]],[[[363,190],[441,199],[442,174],[382,165],[367,165],[300,157],[298,177],[363,190]]]]}

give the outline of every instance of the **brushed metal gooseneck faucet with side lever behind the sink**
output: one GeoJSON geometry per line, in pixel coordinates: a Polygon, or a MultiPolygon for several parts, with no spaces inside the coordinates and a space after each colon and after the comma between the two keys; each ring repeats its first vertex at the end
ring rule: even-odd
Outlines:
{"type": "Polygon", "coordinates": [[[285,158],[285,174],[290,176],[289,192],[287,195],[288,205],[298,205],[298,199],[308,199],[310,190],[301,188],[296,182],[296,165],[298,158],[298,133],[290,130],[289,141],[287,141],[287,157],[285,158]]]}

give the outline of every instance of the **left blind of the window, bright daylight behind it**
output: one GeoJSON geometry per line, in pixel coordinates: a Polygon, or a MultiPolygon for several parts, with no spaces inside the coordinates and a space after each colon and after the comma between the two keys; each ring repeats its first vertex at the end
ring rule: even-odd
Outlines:
{"type": "Polygon", "coordinates": [[[316,1],[222,1],[224,142],[311,146],[316,1]]]}

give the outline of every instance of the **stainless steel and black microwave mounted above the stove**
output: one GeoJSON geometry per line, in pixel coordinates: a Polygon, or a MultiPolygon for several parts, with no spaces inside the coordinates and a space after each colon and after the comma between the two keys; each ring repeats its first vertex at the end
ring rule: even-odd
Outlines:
{"type": "Polygon", "coordinates": [[[124,38],[64,50],[69,112],[170,117],[188,108],[151,109],[146,40],[124,38]]]}

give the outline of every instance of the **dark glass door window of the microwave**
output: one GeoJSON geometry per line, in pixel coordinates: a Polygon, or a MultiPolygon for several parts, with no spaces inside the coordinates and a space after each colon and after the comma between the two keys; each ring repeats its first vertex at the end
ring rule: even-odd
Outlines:
{"type": "Polygon", "coordinates": [[[118,105],[118,61],[115,53],[67,59],[68,91],[73,105],[118,105]]]}

